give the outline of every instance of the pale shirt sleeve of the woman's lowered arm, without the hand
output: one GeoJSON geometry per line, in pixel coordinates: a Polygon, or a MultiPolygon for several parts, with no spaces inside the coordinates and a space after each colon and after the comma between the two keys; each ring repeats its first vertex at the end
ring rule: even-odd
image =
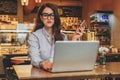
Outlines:
{"type": "Polygon", "coordinates": [[[40,57],[38,43],[39,41],[37,36],[35,34],[31,34],[28,39],[28,51],[31,58],[31,64],[40,68],[40,62],[42,61],[42,58],[40,57]]]}

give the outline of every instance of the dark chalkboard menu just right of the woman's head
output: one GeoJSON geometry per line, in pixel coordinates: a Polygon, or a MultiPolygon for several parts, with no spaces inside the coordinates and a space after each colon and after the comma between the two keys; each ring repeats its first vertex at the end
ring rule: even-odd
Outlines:
{"type": "Polygon", "coordinates": [[[58,6],[58,12],[61,17],[82,17],[81,6],[58,6]]]}

